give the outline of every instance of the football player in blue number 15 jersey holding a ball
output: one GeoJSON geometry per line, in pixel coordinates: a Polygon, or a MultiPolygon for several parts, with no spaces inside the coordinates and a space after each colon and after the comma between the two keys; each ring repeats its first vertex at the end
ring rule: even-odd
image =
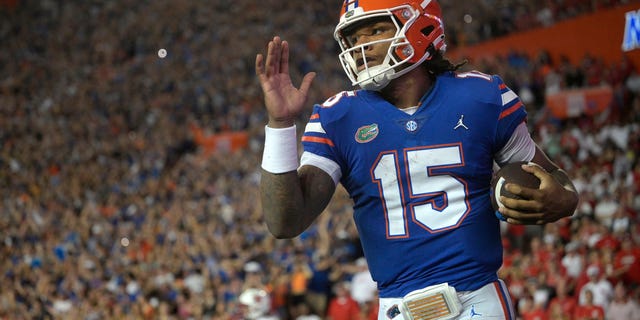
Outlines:
{"type": "Polygon", "coordinates": [[[299,87],[289,44],[274,37],[256,56],[269,121],[261,199],[270,232],[292,238],[325,209],[341,183],[374,280],[379,319],[513,319],[499,220],[489,198],[493,165],[533,162],[538,189],[508,184],[509,223],[573,214],[567,174],[538,148],[519,97],[497,75],[460,72],[445,59],[435,0],[347,0],[334,33],[359,90],[314,106],[298,159],[295,117],[315,73],[299,87]]]}

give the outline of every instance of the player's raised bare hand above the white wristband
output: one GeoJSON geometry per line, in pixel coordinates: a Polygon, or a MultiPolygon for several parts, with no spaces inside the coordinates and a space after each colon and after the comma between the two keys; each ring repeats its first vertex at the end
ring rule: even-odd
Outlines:
{"type": "Polygon", "coordinates": [[[260,79],[270,123],[293,124],[293,119],[300,114],[307,101],[315,73],[305,75],[300,88],[296,88],[289,74],[289,45],[279,37],[274,37],[269,42],[266,61],[261,54],[256,56],[256,74],[260,79]]]}

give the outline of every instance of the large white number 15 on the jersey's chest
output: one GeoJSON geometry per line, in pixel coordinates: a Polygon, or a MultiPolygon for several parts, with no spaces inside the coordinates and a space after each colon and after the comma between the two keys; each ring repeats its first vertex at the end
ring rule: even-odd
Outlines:
{"type": "Polygon", "coordinates": [[[380,155],[371,176],[382,195],[389,238],[408,237],[409,219],[429,232],[447,230],[460,223],[469,211],[466,183],[443,172],[462,166],[461,154],[461,146],[457,144],[406,149],[407,172],[400,172],[396,152],[380,155]],[[409,186],[408,195],[402,187],[403,179],[409,186]]]}

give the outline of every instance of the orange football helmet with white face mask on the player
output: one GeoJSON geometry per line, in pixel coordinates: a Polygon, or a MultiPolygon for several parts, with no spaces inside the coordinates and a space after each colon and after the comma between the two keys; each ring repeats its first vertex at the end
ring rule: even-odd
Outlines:
{"type": "Polygon", "coordinates": [[[425,60],[436,51],[446,50],[442,12],[436,0],[345,0],[336,26],[334,38],[340,45],[340,63],[353,85],[363,89],[380,90],[425,60]],[[347,39],[350,27],[368,19],[389,18],[395,26],[393,37],[353,46],[347,39]],[[388,42],[384,61],[367,63],[367,48],[388,42]],[[354,53],[359,52],[364,67],[358,71],[354,53]]]}

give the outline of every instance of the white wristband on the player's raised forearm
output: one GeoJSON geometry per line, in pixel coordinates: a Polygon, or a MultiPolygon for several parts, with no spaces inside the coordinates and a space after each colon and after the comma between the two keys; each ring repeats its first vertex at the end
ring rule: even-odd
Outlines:
{"type": "Polygon", "coordinates": [[[262,169],[271,173],[285,173],[298,169],[296,125],[288,128],[264,127],[262,169]]]}

